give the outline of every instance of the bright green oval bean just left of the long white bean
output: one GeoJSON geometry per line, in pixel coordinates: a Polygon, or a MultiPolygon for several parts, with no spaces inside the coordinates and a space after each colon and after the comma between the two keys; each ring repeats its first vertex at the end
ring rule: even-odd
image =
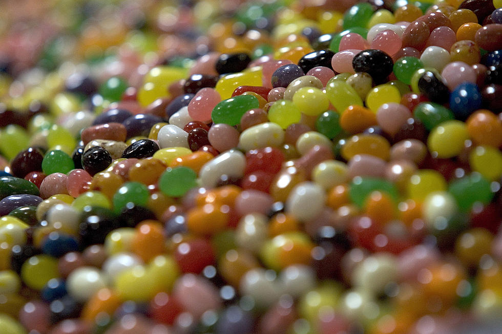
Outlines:
{"type": "Polygon", "coordinates": [[[197,173],[188,167],[166,169],[159,179],[159,189],[171,197],[183,196],[187,191],[197,187],[197,173]]]}

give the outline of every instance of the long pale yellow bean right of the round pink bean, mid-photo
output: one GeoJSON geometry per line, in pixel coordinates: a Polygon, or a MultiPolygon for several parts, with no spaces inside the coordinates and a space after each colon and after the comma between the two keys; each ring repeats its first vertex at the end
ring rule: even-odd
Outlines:
{"type": "Polygon", "coordinates": [[[239,148],[251,150],[261,147],[279,147],[284,141],[284,130],[276,123],[266,122],[242,131],[239,136],[239,148]]]}

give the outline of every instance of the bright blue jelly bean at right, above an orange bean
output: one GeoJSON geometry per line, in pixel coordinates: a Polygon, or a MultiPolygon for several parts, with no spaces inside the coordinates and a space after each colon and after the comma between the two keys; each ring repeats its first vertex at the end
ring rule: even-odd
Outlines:
{"type": "Polygon", "coordinates": [[[458,120],[466,120],[481,105],[482,96],[474,83],[461,83],[450,94],[450,110],[458,120]]]}

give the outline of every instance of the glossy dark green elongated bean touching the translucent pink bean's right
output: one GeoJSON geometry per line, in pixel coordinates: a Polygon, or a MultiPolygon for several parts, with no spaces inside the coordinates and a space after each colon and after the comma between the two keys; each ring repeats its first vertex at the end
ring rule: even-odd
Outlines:
{"type": "Polygon", "coordinates": [[[241,117],[247,110],[258,108],[260,103],[252,95],[239,95],[218,103],[211,114],[213,123],[225,123],[237,125],[241,122],[241,117]]]}

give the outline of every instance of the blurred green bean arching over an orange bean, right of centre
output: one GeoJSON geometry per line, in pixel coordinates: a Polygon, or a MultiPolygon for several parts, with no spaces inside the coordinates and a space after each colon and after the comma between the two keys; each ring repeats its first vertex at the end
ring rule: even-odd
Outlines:
{"type": "Polygon", "coordinates": [[[398,189],[396,189],[391,182],[375,177],[354,177],[350,184],[349,197],[354,204],[362,208],[366,202],[366,198],[368,198],[373,191],[385,192],[389,194],[396,203],[398,202],[398,189]]]}

